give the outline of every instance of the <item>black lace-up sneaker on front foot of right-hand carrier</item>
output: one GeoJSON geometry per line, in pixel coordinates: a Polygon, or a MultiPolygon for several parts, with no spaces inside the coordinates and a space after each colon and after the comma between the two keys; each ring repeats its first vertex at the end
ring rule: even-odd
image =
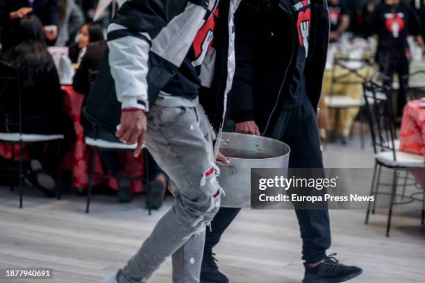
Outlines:
{"type": "Polygon", "coordinates": [[[356,266],[344,266],[335,259],[336,254],[326,257],[322,264],[310,268],[304,264],[306,273],[303,283],[338,283],[351,280],[360,275],[363,271],[356,266]]]}

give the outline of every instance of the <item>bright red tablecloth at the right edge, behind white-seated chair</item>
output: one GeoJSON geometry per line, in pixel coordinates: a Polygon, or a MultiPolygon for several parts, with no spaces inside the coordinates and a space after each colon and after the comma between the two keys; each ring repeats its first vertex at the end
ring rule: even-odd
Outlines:
{"type": "Polygon", "coordinates": [[[400,151],[425,156],[425,108],[421,101],[410,101],[403,111],[400,129],[400,151]]]}

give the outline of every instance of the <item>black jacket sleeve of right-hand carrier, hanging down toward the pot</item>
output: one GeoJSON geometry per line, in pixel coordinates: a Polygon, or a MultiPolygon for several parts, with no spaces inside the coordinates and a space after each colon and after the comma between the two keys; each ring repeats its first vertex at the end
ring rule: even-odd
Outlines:
{"type": "Polygon", "coordinates": [[[235,76],[228,96],[228,116],[236,123],[253,121],[256,22],[240,8],[235,15],[235,76]]]}

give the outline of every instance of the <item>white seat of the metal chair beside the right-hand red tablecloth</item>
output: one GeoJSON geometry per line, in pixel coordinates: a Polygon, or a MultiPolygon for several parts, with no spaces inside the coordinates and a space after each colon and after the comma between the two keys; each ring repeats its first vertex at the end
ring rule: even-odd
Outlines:
{"type": "Polygon", "coordinates": [[[396,160],[392,151],[383,151],[375,155],[376,160],[387,166],[399,167],[425,167],[424,155],[413,153],[405,153],[403,151],[396,151],[396,160]]]}

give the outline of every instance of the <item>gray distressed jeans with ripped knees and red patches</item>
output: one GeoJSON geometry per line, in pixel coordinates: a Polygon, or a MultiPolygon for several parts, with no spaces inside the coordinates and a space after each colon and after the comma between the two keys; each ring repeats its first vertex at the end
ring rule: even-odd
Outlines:
{"type": "Polygon", "coordinates": [[[147,148],[169,175],[176,202],[118,271],[117,282],[147,282],[172,255],[173,282],[198,283],[206,225],[219,209],[221,194],[210,123],[201,105],[155,105],[147,119],[147,148]]]}

